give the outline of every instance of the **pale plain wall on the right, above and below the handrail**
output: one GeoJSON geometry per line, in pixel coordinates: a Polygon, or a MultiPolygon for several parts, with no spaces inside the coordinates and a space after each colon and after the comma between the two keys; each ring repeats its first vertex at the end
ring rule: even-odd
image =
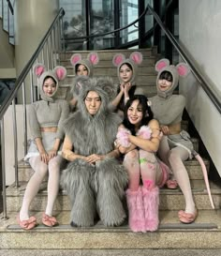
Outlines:
{"type": "MultiPolygon", "coordinates": [[[[221,100],[221,1],[179,1],[180,41],[221,100]]],[[[186,108],[221,175],[221,115],[192,75],[181,83],[186,108]]]]}

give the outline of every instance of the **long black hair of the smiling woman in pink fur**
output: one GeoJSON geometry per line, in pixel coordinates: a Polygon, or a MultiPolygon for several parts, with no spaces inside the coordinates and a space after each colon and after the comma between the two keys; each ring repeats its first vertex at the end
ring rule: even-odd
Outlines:
{"type": "Polygon", "coordinates": [[[140,127],[146,126],[154,118],[154,113],[152,112],[150,106],[147,103],[148,98],[146,98],[144,95],[134,95],[132,98],[128,99],[128,101],[125,104],[123,125],[125,126],[125,128],[128,128],[131,131],[132,135],[136,134],[135,126],[129,122],[127,111],[132,105],[133,101],[136,99],[139,100],[139,104],[141,105],[142,109],[142,119],[140,122],[140,127]]]}

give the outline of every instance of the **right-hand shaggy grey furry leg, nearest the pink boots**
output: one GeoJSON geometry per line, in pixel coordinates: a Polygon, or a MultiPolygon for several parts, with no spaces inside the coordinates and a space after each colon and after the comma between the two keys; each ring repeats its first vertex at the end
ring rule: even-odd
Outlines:
{"type": "Polygon", "coordinates": [[[127,184],[125,168],[115,161],[103,162],[97,168],[96,179],[96,205],[100,219],[106,226],[121,225],[126,218],[123,206],[127,184]]]}

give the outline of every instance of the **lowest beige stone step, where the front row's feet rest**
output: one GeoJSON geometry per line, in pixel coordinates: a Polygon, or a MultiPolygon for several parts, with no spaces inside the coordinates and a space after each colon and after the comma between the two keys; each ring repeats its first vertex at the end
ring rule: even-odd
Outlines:
{"type": "MultiPolygon", "coordinates": [[[[41,248],[47,250],[63,249],[63,253],[63,251],[65,252],[68,249],[87,249],[88,251],[102,249],[105,250],[106,253],[109,253],[102,254],[102,251],[99,251],[101,254],[90,255],[112,255],[111,252],[118,249],[119,254],[117,255],[127,255],[124,254],[124,251],[129,249],[132,253],[132,250],[134,249],[141,250],[140,252],[142,252],[143,249],[159,248],[221,248],[220,209],[215,211],[199,210],[199,215],[196,221],[188,225],[179,222],[177,211],[160,211],[159,229],[154,233],[133,233],[129,230],[127,225],[117,228],[107,228],[100,222],[90,228],[72,228],[69,225],[69,212],[66,211],[54,213],[60,225],[53,228],[47,228],[41,224],[40,219],[42,213],[34,212],[33,214],[37,217],[39,225],[29,232],[23,231],[16,223],[16,212],[9,212],[7,220],[0,219],[1,251],[2,249],[35,250],[41,248]]],[[[192,254],[181,254],[179,252],[177,255],[192,254]]]]}

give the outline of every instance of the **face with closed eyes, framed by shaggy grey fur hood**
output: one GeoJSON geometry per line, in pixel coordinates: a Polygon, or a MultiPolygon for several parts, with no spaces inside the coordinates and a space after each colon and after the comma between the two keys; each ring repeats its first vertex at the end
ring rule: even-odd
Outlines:
{"type": "Polygon", "coordinates": [[[84,99],[86,109],[91,115],[95,115],[101,105],[101,98],[95,91],[90,91],[84,99]]]}

